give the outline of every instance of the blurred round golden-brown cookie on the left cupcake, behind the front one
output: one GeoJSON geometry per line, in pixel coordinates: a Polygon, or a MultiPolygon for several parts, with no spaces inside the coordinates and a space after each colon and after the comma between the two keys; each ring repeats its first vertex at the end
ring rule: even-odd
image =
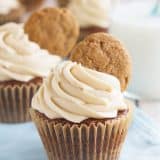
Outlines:
{"type": "Polygon", "coordinates": [[[24,29],[30,40],[62,57],[68,56],[79,36],[74,16],[69,10],[60,8],[45,8],[33,13],[24,29]]]}

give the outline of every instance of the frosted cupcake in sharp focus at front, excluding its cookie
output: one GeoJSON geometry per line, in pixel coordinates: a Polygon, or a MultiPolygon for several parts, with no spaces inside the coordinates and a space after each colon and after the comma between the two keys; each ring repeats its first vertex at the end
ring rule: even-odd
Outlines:
{"type": "Polygon", "coordinates": [[[64,61],[44,80],[30,113],[49,160],[118,160],[132,106],[116,77],[64,61]]]}

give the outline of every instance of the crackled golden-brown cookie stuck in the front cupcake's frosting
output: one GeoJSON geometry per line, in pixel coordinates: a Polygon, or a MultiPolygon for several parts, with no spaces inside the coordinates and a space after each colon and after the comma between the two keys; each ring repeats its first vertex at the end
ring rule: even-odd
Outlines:
{"type": "Polygon", "coordinates": [[[122,91],[127,88],[131,77],[131,59],[123,45],[111,35],[89,35],[75,46],[70,59],[116,76],[120,80],[122,91]]]}

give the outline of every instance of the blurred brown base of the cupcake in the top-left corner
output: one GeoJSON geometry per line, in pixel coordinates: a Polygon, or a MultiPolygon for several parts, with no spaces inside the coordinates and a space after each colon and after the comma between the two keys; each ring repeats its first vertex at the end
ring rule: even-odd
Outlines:
{"type": "Polygon", "coordinates": [[[7,15],[0,14],[0,25],[7,22],[19,22],[20,18],[23,16],[24,8],[21,7],[19,9],[11,11],[7,15]]]}

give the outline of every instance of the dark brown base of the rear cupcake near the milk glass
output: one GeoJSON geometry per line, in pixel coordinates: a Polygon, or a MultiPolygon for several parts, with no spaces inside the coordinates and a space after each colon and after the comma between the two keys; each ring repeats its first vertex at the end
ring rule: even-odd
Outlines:
{"type": "Polygon", "coordinates": [[[108,28],[101,28],[96,26],[86,27],[86,28],[80,28],[80,36],[79,41],[85,39],[86,36],[92,34],[92,33],[98,33],[98,32],[108,32],[108,28]]]}

